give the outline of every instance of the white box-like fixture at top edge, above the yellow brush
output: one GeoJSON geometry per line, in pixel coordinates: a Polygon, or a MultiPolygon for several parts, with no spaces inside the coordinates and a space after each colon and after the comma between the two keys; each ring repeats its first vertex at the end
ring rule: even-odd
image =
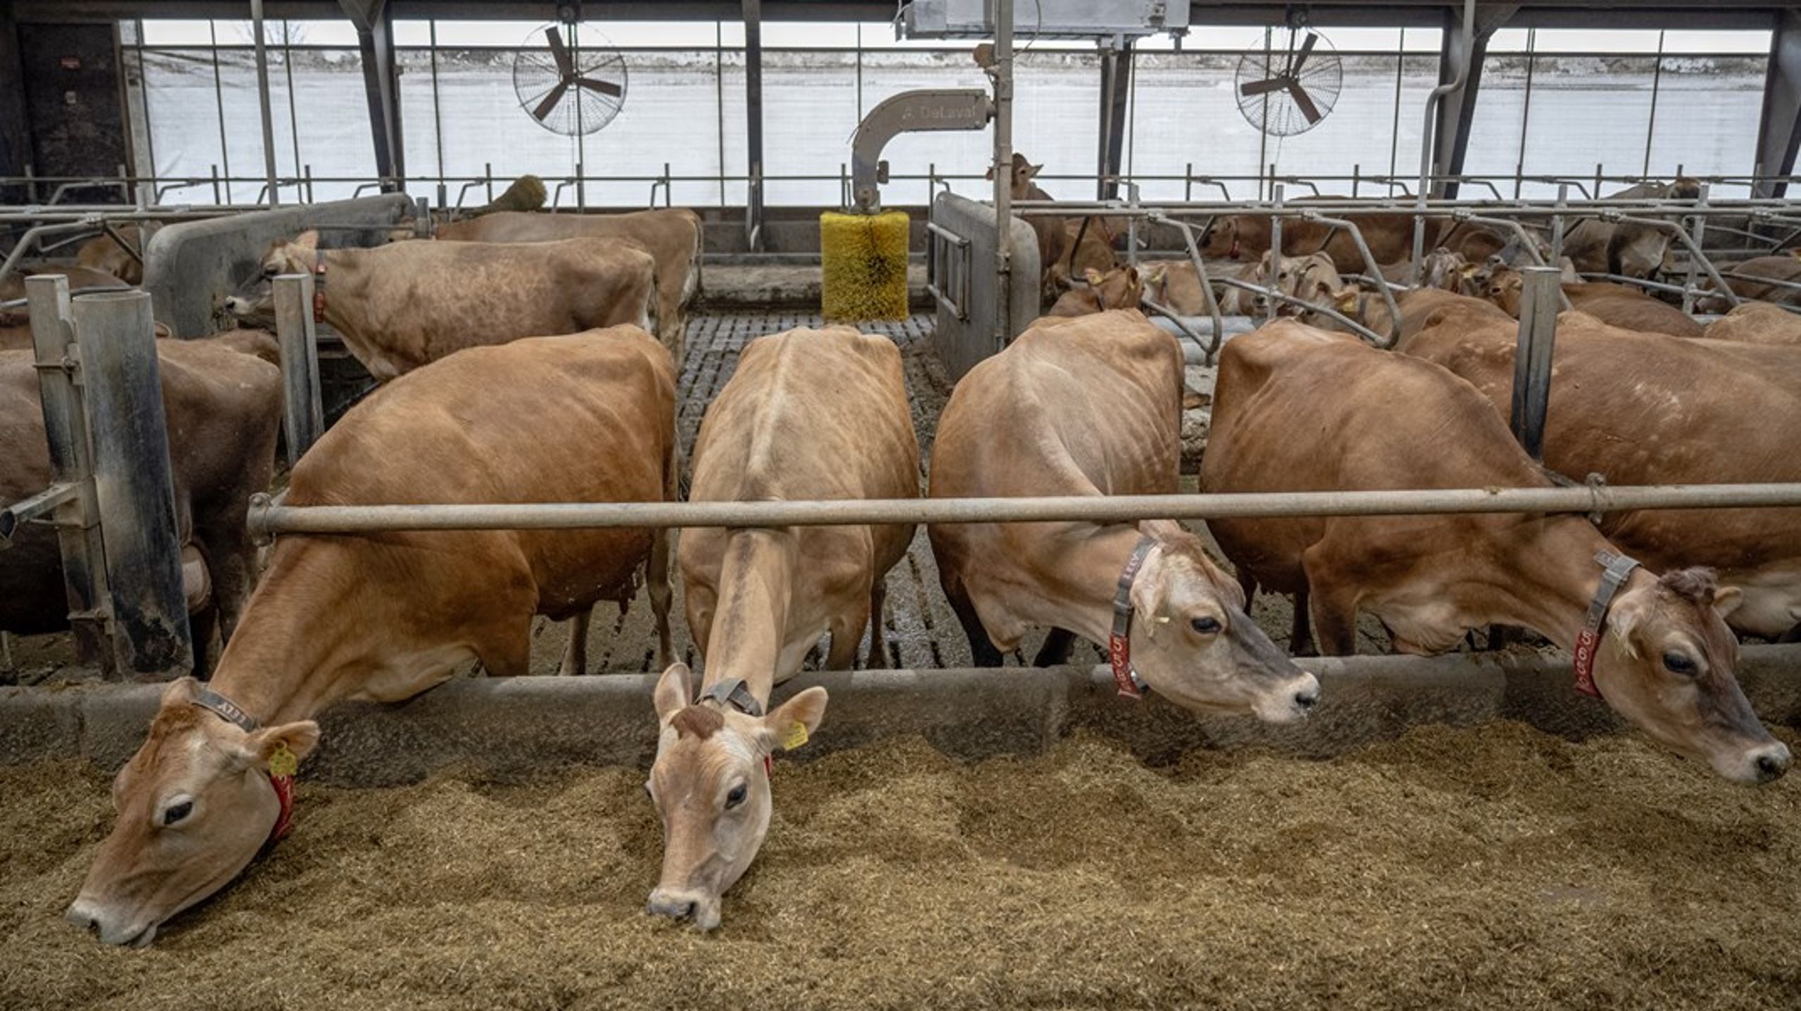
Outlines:
{"type": "MultiPolygon", "coordinates": [[[[1189,0],[1014,0],[1014,38],[1149,36],[1189,31],[1189,0]]],[[[913,0],[904,38],[994,38],[994,0],[913,0]]]]}

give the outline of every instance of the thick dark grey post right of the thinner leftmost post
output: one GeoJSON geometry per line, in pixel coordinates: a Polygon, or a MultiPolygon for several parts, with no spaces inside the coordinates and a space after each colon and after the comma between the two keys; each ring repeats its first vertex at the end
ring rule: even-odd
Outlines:
{"type": "Polygon", "coordinates": [[[119,669],[187,670],[195,651],[149,292],[83,296],[74,303],[74,323],[119,669]]]}

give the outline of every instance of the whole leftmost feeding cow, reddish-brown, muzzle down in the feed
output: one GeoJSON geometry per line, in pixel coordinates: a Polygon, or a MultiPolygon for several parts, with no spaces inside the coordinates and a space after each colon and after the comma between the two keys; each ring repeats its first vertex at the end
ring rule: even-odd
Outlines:
{"type": "MultiPolygon", "coordinates": [[[[301,458],[286,501],[665,501],[675,456],[668,351],[616,326],[470,348],[385,384],[301,458]],[[529,391],[529,409],[497,384],[529,391]]],[[[666,663],[666,557],[648,530],[279,537],[209,685],[231,708],[196,705],[209,699],[195,681],[164,692],[68,919],[106,944],[148,944],[285,820],[270,762],[306,757],[313,715],[411,697],[470,660],[526,674],[533,615],[630,598],[639,568],[666,663]]]]}

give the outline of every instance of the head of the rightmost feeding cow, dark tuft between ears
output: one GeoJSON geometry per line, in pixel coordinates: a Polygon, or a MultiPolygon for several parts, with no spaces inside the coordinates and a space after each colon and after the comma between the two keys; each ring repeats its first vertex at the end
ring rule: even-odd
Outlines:
{"type": "Polygon", "coordinates": [[[1606,616],[1594,681],[1621,715],[1725,779],[1769,782],[1788,771],[1788,748],[1770,737],[1733,669],[1738,638],[1725,627],[1742,600],[1711,569],[1653,578],[1634,573],[1606,616]]]}

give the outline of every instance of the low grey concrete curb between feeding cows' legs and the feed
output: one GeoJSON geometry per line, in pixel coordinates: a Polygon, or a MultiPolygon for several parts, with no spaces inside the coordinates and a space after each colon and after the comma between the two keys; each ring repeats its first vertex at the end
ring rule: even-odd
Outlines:
{"type": "MultiPolygon", "coordinates": [[[[1270,748],[1326,757],[1408,726],[1518,719],[1551,733],[1612,733],[1623,723],[1578,696],[1569,661],[1533,656],[1349,656],[1302,660],[1324,685],[1318,712],[1291,726],[1196,717],[1122,699],[1104,667],[859,670],[803,674],[778,697],[823,685],[825,726],[796,759],[893,735],[924,735],[962,759],[1036,753],[1073,730],[1162,762],[1192,748],[1270,748]]],[[[1801,645],[1747,647],[1740,681],[1758,714],[1801,726],[1801,645]]],[[[398,705],[346,703],[321,717],[306,777],[340,786],[416,782],[457,768],[520,779],[564,764],[648,766],[656,748],[648,674],[452,681],[398,705]]],[[[0,688],[0,762],[86,759],[112,770],[144,739],[160,685],[0,688]]]]}

